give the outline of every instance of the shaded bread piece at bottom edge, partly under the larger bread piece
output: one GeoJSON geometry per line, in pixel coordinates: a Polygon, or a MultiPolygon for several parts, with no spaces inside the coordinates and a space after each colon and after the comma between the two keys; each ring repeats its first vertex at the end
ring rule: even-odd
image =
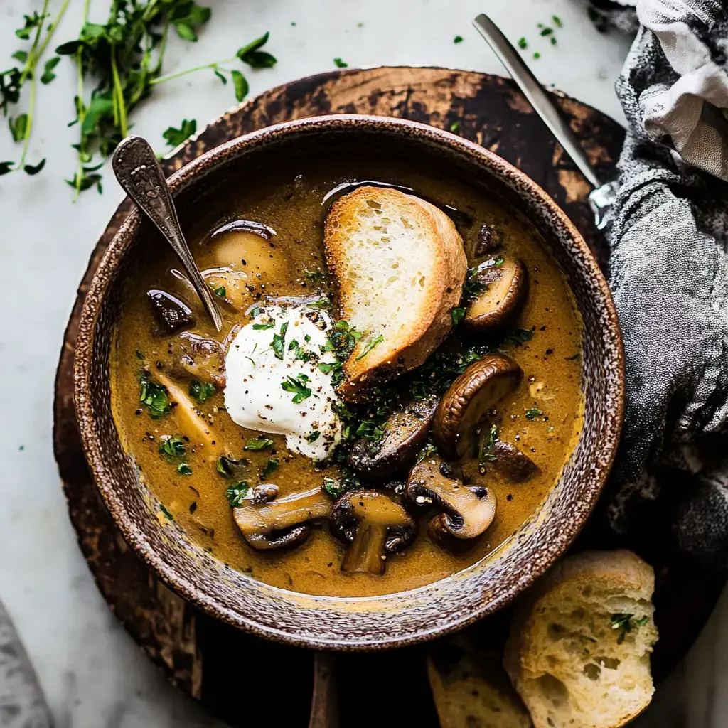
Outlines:
{"type": "Polygon", "coordinates": [[[500,665],[471,654],[453,665],[428,657],[427,676],[440,728],[531,728],[529,713],[500,665]]]}

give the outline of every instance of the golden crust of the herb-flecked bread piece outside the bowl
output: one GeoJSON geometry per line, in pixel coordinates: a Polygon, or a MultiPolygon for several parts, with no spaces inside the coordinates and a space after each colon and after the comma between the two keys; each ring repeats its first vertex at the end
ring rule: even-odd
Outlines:
{"type": "MultiPolygon", "coordinates": [[[[625,549],[577,553],[557,563],[544,579],[531,587],[515,609],[510,635],[505,644],[503,666],[516,692],[528,706],[534,728],[554,728],[547,722],[545,711],[539,710],[539,705],[529,700],[528,689],[525,687],[529,676],[523,670],[521,660],[523,652],[529,649],[532,625],[539,618],[536,613],[539,602],[567,584],[576,586],[599,583],[611,590],[623,591],[628,598],[651,602],[654,593],[654,570],[638,555],[625,549]]],[[[647,705],[649,700],[617,722],[597,725],[599,728],[621,728],[636,719],[647,705]]]]}

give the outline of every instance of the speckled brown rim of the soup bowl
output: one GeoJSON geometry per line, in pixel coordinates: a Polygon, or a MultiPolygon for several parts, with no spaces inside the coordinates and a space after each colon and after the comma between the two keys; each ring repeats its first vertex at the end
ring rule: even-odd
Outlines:
{"type": "MultiPolygon", "coordinates": [[[[591,253],[582,235],[577,231],[574,223],[571,222],[566,213],[563,212],[561,207],[556,204],[541,186],[531,180],[526,173],[523,173],[517,167],[510,164],[510,162],[507,162],[502,157],[494,154],[489,149],[479,146],[475,142],[459,137],[446,130],[439,129],[438,127],[432,127],[429,124],[422,124],[421,122],[414,122],[409,119],[372,116],[368,114],[311,116],[263,127],[210,149],[170,175],[167,178],[167,184],[170,186],[173,197],[175,197],[186,189],[189,184],[194,183],[199,176],[213,172],[218,167],[239,157],[246,151],[261,146],[268,141],[277,141],[277,138],[301,130],[311,132],[332,129],[356,131],[362,126],[375,127],[376,130],[381,132],[386,132],[387,127],[395,127],[400,132],[416,131],[420,136],[424,136],[427,141],[447,147],[450,151],[459,152],[466,157],[480,158],[480,161],[485,163],[485,166],[488,167],[488,170],[490,170],[495,178],[499,178],[502,181],[508,179],[517,189],[517,194],[523,195],[528,193],[536,199],[537,203],[544,207],[549,217],[553,219],[553,225],[558,225],[563,229],[571,245],[576,249],[576,254],[579,256],[582,266],[584,266],[583,277],[590,279],[590,283],[596,290],[601,305],[604,306],[607,325],[604,327],[605,331],[603,331],[602,336],[609,340],[610,360],[614,367],[614,373],[617,376],[608,380],[609,400],[613,405],[612,427],[607,428],[608,436],[598,443],[598,452],[602,455],[600,460],[601,468],[596,478],[597,485],[590,490],[590,497],[585,503],[585,510],[582,517],[563,523],[563,528],[558,531],[557,536],[551,542],[555,548],[551,548],[541,554],[537,571],[529,571],[528,574],[521,574],[518,577],[514,577],[513,584],[504,596],[496,597],[491,599],[491,601],[483,601],[475,609],[472,609],[471,612],[467,614],[460,612],[460,616],[456,616],[452,620],[447,620],[437,627],[433,628],[431,625],[423,624],[416,630],[411,630],[405,636],[397,635],[391,639],[352,641],[346,638],[338,639],[311,636],[306,633],[293,634],[270,627],[269,625],[262,625],[261,622],[253,620],[251,617],[242,614],[242,612],[220,604],[215,600],[213,595],[199,589],[189,577],[181,573],[174,563],[161,558],[157,550],[151,546],[141,532],[141,529],[138,529],[132,523],[131,519],[127,520],[125,515],[126,507],[124,507],[122,500],[116,494],[117,486],[114,483],[114,472],[111,468],[107,467],[103,457],[103,444],[97,436],[95,427],[92,426],[94,421],[94,408],[91,392],[96,386],[92,379],[92,358],[95,351],[96,328],[100,314],[103,311],[103,304],[106,302],[106,293],[111,285],[116,265],[124,258],[127,248],[132,245],[141,227],[143,215],[137,207],[134,207],[122,225],[119,226],[114,238],[109,243],[90,282],[87,295],[84,299],[82,314],[79,319],[79,331],[76,339],[76,355],[74,357],[74,405],[84,454],[90,466],[95,486],[100,492],[106,508],[111,513],[112,518],[114,518],[116,526],[122,532],[124,539],[141,556],[154,574],[168,587],[173,589],[175,593],[178,593],[186,601],[207,612],[207,614],[238,628],[242,628],[249,633],[264,638],[271,638],[289,645],[313,647],[315,649],[371,650],[416,644],[417,642],[444,636],[456,629],[464,628],[472,624],[472,622],[482,619],[487,614],[501,609],[505,604],[512,601],[515,596],[518,596],[523,590],[526,590],[531,583],[539,577],[542,577],[553,566],[555,561],[563,556],[563,553],[568,549],[569,545],[571,545],[574,538],[590,517],[602,488],[604,488],[604,483],[606,482],[617,453],[625,410],[625,360],[617,310],[614,306],[612,293],[609,290],[604,274],[596,263],[593,253],[591,253]]],[[[464,574],[470,568],[472,567],[467,567],[464,571],[457,573],[464,574]]],[[[446,577],[446,579],[451,579],[456,575],[446,577]]],[[[467,579],[468,577],[465,576],[464,578],[467,579]]],[[[440,582],[434,583],[437,584],[440,582]]],[[[261,584],[264,584],[264,582],[261,582],[261,584]]],[[[418,587],[416,590],[406,590],[405,592],[399,593],[414,593],[428,586],[431,585],[425,585],[424,587],[418,587]]],[[[381,600],[389,596],[392,595],[344,599],[347,601],[350,599],[351,601],[366,602],[381,600]]],[[[315,601],[324,602],[342,600],[340,597],[320,596],[312,598],[315,601]]],[[[438,598],[436,594],[435,598],[438,598]]]]}

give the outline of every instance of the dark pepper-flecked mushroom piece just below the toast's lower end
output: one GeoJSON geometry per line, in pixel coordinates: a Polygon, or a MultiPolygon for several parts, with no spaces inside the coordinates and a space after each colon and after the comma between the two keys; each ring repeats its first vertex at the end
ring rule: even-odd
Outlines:
{"type": "Polygon", "coordinates": [[[381,440],[355,440],[349,451],[349,465],[372,478],[385,478],[408,467],[427,438],[437,407],[436,397],[408,402],[384,423],[381,440]]]}

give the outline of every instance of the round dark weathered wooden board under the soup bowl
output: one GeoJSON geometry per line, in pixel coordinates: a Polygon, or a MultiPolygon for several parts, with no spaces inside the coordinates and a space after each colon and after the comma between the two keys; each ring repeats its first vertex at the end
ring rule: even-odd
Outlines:
{"type": "MultiPolygon", "coordinates": [[[[559,106],[601,178],[614,175],[624,131],[596,109],[555,92],[559,106]]],[[[265,92],[221,116],[163,162],[178,170],[208,149],[269,124],[320,114],[400,116],[442,127],[486,146],[519,167],[558,202],[587,240],[602,266],[606,247],[593,226],[585,179],[540,122],[510,79],[443,68],[373,68],[332,71],[265,92]]],[[[135,641],[170,680],[232,726],[290,728],[309,724],[314,686],[311,652],[261,641],[197,612],[170,592],[130,551],[92,483],[79,440],[73,404],[73,362],[79,314],[93,273],[129,213],[125,200],[96,243],[66,328],[55,381],[54,448],[68,513],[98,587],[135,641]],[[282,692],[285,695],[282,695],[282,692]]],[[[633,547],[657,571],[657,622],[661,640],[654,673],[665,676],[687,652],[725,583],[724,574],[676,552],[669,503],[636,523],[619,542],[593,523],[580,539],[589,547],[633,547]]],[[[497,645],[507,614],[476,625],[474,640],[488,633],[497,645]]],[[[466,633],[467,635],[468,633],[466,633]]],[[[447,645],[440,641],[438,649],[447,645]]],[[[461,640],[462,644],[462,640],[461,640]]],[[[341,725],[418,724],[436,727],[424,658],[430,646],[382,654],[336,657],[341,725]],[[392,692],[373,700],[391,683],[392,692]],[[363,686],[370,690],[362,693],[363,686]],[[367,697],[368,696],[368,697],[367,697]],[[364,698],[364,699],[363,699],[364,698]],[[384,712],[386,711],[386,713],[384,712]]],[[[331,724],[332,696],[321,676],[331,665],[317,661],[317,707],[312,726],[331,724]]]]}

